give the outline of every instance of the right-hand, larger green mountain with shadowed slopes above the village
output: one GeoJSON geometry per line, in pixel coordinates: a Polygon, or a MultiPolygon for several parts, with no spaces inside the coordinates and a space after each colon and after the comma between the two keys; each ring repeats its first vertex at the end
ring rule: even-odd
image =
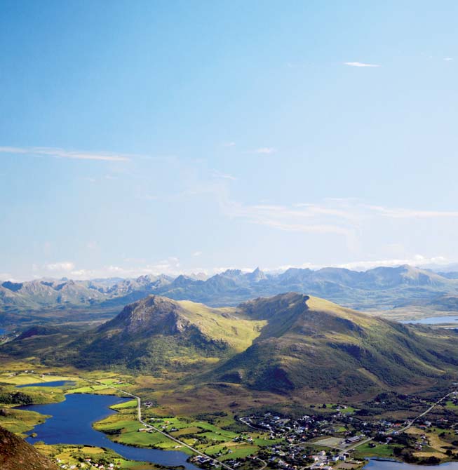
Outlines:
{"type": "Polygon", "coordinates": [[[251,389],[356,395],[375,388],[422,387],[458,372],[458,335],[344,309],[289,293],[239,306],[268,321],[252,346],[207,375],[251,389]]]}

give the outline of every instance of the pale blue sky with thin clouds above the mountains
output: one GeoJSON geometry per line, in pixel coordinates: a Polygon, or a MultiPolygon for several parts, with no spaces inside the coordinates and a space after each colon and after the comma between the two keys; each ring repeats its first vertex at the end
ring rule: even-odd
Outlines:
{"type": "Polygon", "coordinates": [[[457,2],[0,8],[0,278],[458,261],[457,2]]]}

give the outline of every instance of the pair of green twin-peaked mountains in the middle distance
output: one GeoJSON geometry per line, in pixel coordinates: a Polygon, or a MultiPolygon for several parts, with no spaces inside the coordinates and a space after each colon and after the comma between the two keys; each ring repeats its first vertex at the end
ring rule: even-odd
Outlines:
{"type": "Polygon", "coordinates": [[[403,325],[297,293],[220,308],[150,295],[86,333],[30,330],[0,352],[33,354],[47,365],[179,374],[188,392],[227,384],[298,399],[356,398],[456,381],[457,339],[454,330],[403,325]]]}

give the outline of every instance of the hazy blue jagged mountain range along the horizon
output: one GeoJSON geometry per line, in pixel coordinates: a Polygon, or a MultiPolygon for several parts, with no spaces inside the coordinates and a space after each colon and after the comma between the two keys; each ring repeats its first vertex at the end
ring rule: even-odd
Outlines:
{"type": "Polygon", "coordinates": [[[8,314],[25,311],[97,307],[116,312],[123,305],[151,294],[216,307],[289,291],[324,297],[354,309],[391,309],[436,299],[440,308],[450,309],[453,302],[447,300],[444,304],[440,298],[458,294],[458,274],[440,274],[403,265],[368,271],[290,268],[281,274],[264,273],[260,269],[249,273],[228,269],[207,279],[159,275],[90,281],[67,278],[5,281],[0,284],[0,312],[4,321],[8,314]]]}

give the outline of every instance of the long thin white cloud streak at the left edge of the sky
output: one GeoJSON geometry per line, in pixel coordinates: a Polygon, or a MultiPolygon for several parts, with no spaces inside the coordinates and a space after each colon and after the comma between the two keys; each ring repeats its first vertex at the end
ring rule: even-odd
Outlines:
{"type": "Polygon", "coordinates": [[[81,152],[53,147],[0,147],[2,154],[22,154],[29,156],[50,156],[55,159],[129,161],[131,154],[114,154],[112,152],[81,152]]]}

